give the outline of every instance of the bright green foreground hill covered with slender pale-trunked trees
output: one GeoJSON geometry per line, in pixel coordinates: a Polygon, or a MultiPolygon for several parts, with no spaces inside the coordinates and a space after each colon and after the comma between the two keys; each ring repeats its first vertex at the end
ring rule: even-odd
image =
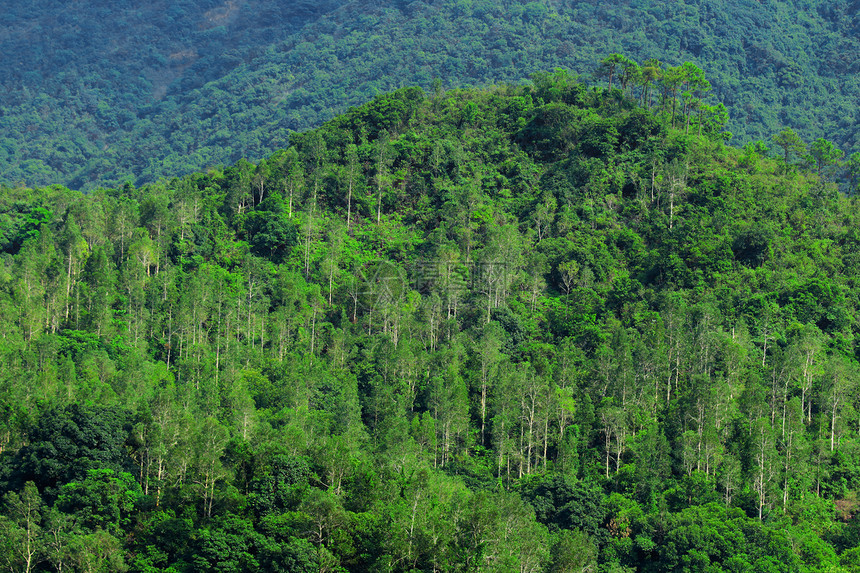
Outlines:
{"type": "Polygon", "coordinates": [[[3,566],[856,571],[860,205],[629,93],[3,187],[3,566]]]}

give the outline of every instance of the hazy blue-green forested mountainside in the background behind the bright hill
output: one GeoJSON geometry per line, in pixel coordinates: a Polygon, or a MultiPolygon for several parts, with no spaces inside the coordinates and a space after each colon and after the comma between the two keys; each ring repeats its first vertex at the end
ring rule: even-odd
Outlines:
{"type": "Polygon", "coordinates": [[[259,160],[406,85],[694,62],[735,141],[791,127],[860,151],[856,2],[14,2],[0,22],[0,180],[75,189],[259,160]]]}

